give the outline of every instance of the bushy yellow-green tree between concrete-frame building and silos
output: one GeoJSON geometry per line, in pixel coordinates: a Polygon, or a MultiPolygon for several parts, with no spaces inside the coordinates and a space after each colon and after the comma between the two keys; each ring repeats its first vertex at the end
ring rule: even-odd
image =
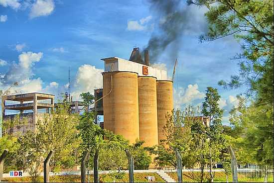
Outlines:
{"type": "Polygon", "coordinates": [[[62,168],[75,166],[80,159],[78,150],[81,139],[76,129],[79,116],[69,110],[70,106],[66,103],[58,104],[50,115],[44,114],[43,118],[37,121],[37,131],[41,133],[46,144],[45,152],[54,150],[50,166],[57,172],[62,168]]]}

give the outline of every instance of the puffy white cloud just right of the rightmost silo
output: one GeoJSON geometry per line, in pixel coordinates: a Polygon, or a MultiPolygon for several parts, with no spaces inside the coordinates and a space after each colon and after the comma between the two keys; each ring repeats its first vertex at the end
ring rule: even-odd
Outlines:
{"type": "Polygon", "coordinates": [[[181,108],[185,105],[194,104],[195,100],[203,99],[205,94],[199,91],[197,84],[188,85],[186,89],[179,88],[178,91],[174,89],[174,107],[181,108]]]}

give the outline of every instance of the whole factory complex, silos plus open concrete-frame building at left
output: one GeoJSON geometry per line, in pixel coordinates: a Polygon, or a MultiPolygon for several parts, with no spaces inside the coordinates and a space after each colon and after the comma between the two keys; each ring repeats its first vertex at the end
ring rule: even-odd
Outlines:
{"type": "MultiPolygon", "coordinates": [[[[104,116],[103,122],[95,118],[95,123],[102,128],[123,135],[130,143],[139,139],[145,141],[144,146],[153,146],[165,138],[166,115],[173,110],[173,82],[167,78],[166,70],[149,64],[148,51],[144,51],[143,58],[139,49],[134,48],[129,60],[119,57],[101,59],[105,67],[103,89],[94,90],[95,104],[91,110],[104,116]]],[[[84,103],[73,101],[70,93],[66,96],[70,111],[79,113],[84,103]]],[[[44,113],[50,113],[57,104],[54,104],[54,95],[46,93],[3,96],[2,119],[3,122],[13,120],[18,114],[20,119],[26,118],[27,124],[9,129],[10,133],[24,133],[34,130],[44,113]],[[10,110],[15,113],[6,112],[10,110]]],[[[208,117],[197,117],[208,125],[208,117]]]]}

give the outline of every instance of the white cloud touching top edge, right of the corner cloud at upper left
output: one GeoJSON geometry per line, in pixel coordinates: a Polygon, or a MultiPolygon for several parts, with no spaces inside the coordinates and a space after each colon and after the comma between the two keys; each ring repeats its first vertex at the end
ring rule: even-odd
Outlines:
{"type": "Polygon", "coordinates": [[[37,0],[32,4],[30,9],[30,18],[35,18],[38,16],[47,16],[54,10],[53,0],[37,0]]]}

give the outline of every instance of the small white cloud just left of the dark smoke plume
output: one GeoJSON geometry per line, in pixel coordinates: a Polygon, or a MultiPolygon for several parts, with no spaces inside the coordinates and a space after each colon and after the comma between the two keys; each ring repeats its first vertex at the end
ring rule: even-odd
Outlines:
{"type": "MultiPolygon", "coordinates": [[[[141,18],[138,21],[133,21],[130,20],[128,21],[128,30],[131,31],[141,31],[141,30],[147,30],[149,28],[149,26],[147,25],[147,23],[152,19],[152,16],[147,16],[144,18],[141,18]]],[[[153,25],[150,26],[150,28],[153,28],[153,25]]]]}

